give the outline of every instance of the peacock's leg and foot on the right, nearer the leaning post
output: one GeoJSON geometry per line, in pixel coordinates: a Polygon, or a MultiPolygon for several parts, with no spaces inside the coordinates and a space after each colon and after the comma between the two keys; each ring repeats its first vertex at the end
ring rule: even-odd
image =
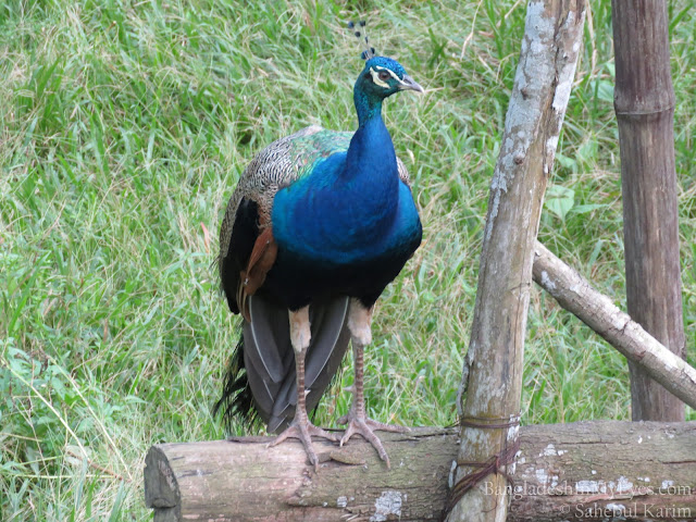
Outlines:
{"type": "Polygon", "coordinates": [[[353,364],[356,366],[356,378],[352,385],[352,405],[347,415],[338,420],[339,424],[347,424],[346,432],[340,439],[340,446],[347,443],[355,434],[370,442],[380,453],[380,458],[384,460],[387,468],[390,468],[389,456],[387,455],[382,440],[375,435],[376,430],[385,432],[408,432],[406,426],[394,424],[384,424],[382,422],[369,419],[365,414],[365,397],[363,391],[364,378],[364,347],[372,341],[372,309],[364,308],[358,300],[352,299],[350,302],[350,315],[348,318],[348,328],[350,330],[353,364]]]}

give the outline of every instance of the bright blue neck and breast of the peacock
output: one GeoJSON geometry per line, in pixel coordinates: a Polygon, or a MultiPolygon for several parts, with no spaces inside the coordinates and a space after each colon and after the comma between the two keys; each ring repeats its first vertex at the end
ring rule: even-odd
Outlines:
{"type": "Polygon", "coordinates": [[[366,96],[359,85],[353,99],[359,127],[348,150],[279,190],[273,204],[279,246],[332,262],[363,259],[383,248],[399,208],[399,173],[382,99],[366,96]]]}

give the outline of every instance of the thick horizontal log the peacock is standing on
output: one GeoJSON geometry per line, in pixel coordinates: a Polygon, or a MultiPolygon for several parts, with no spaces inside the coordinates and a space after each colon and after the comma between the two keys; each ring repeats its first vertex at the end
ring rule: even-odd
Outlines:
{"type": "MultiPolygon", "coordinates": [[[[160,444],[146,458],[146,504],[154,522],[438,520],[456,431],[383,439],[390,471],[359,438],[344,448],[315,442],[318,473],[299,444],[266,448],[268,437],[160,444]]],[[[696,422],[536,425],[520,439],[509,521],[696,517],[696,422]]],[[[494,496],[493,481],[482,486],[494,496]]]]}

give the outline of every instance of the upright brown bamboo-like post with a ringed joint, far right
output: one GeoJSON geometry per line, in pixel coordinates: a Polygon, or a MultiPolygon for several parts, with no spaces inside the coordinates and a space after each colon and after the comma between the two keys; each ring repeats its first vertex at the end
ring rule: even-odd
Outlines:
{"type": "MultiPolygon", "coordinates": [[[[629,314],[685,357],[664,0],[612,0],[629,314]]],[[[683,421],[684,405],[629,361],[633,420],[683,421]]]]}

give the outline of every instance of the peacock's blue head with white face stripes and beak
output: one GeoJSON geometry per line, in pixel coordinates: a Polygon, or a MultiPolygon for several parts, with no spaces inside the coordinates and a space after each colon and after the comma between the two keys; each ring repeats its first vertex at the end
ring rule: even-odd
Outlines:
{"type": "Polygon", "coordinates": [[[423,87],[406,74],[396,60],[372,57],[365,61],[365,67],[356,82],[356,90],[361,90],[368,98],[383,100],[401,90],[423,92],[423,87]]]}

